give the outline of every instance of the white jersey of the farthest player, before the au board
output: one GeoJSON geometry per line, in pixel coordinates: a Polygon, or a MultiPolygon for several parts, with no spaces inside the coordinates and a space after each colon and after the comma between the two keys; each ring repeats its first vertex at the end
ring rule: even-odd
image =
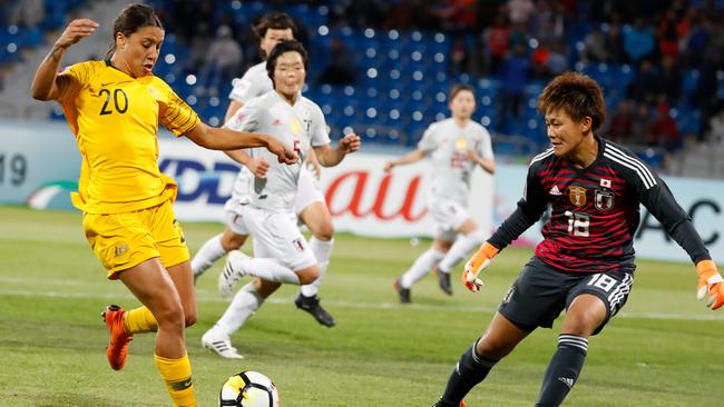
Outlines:
{"type": "Polygon", "coordinates": [[[428,127],[418,148],[428,151],[433,162],[430,199],[451,199],[467,207],[470,176],[478,166],[466,158],[467,151],[474,149],[479,157],[492,160],[488,130],[472,120],[460,128],[454,119],[444,119],[428,127]]]}

